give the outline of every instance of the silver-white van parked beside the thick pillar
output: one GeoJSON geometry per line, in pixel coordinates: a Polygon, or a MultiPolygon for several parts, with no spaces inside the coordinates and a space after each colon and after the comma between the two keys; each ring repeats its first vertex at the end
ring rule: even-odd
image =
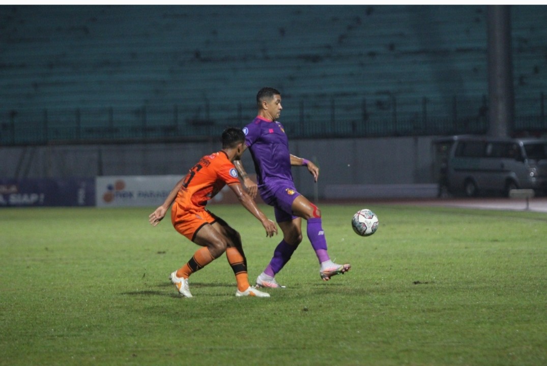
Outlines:
{"type": "Polygon", "coordinates": [[[457,135],[439,141],[447,150],[439,183],[451,193],[547,191],[547,140],[457,135]]]}

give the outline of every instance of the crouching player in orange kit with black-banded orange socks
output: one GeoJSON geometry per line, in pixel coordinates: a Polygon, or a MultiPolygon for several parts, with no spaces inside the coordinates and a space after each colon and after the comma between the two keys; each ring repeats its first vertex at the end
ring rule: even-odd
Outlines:
{"type": "Polygon", "coordinates": [[[189,276],[222,256],[224,252],[236,276],[236,296],[270,297],[269,293],[249,285],[247,259],[243,253],[240,234],[205,208],[208,200],[228,185],[240,203],[262,223],[266,236],[277,234],[275,223],[257,207],[238,179],[233,161],[239,160],[246,148],[245,134],[241,129],[225,129],[222,134],[222,150],[203,156],[174,186],[164,204],[149,215],[150,224],[156,226],[171,206],[171,222],[174,228],[202,246],[188,263],[170,275],[171,282],[184,297],[192,297],[188,286],[189,276]]]}

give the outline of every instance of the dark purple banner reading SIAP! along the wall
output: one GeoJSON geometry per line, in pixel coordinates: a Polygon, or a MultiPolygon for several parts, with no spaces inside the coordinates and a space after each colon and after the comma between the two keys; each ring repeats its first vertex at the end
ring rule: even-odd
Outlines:
{"type": "Polygon", "coordinates": [[[95,178],[0,179],[0,207],[94,205],[95,178]]]}

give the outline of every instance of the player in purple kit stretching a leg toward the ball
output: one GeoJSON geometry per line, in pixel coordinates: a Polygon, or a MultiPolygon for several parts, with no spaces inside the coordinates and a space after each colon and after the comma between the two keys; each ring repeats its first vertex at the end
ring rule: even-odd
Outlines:
{"type": "Polygon", "coordinates": [[[257,287],[284,287],[277,283],[275,275],[287,264],[302,241],[302,219],[307,220],[306,234],[319,260],[321,279],[328,281],[334,275],[344,274],[351,265],[331,261],[321,210],[294,187],[292,166],[307,167],[316,182],[319,168],[309,160],[290,154],[287,135],[283,125],[277,121],[283,109],[281,93],[271,87],[261,88],[257,94],[257,105],[257,117],[243,128],[243,132],[253,158],[258,185],[247,176],[241,161],[234,161],[234,165],[251,197],[256,196],[258,189],[264,202],[274,206],[276,221],[283,231],[283,240],[257,278],[257,287]]]}

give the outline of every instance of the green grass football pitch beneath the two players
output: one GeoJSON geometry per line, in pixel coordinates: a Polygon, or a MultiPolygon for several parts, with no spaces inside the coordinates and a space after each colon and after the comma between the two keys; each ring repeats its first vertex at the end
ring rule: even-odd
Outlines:
{"type": "MultiPolygon", "coordinates": [[[[0,365],[547,364],[546,214],[319,206],[351,271],[321,281],[304,234],[267,299],[236,298],[224,256],[179,297],[168,275],[197,246],[150,226],[153,208],[2,209],[0,365]],[[371,237],[351,229],[361,208],[380,218],[371,237]]],[[[240,231],[253,283],[281,236],[210,208],[240,231]]]]}

